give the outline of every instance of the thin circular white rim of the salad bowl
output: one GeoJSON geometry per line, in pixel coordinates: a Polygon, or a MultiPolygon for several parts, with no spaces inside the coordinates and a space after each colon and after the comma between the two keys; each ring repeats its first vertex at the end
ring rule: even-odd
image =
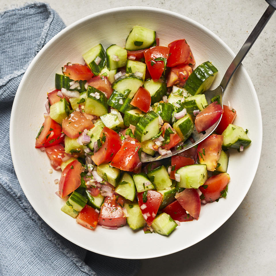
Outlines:
{"type": "MultiPolygon", "coordinates": [[[[24,183],[23,179],[21,178],[20,172],[19,172],[19,166],[20,163],[17,162],[16,159],[16,151],[14,148],[15,145],[15,134],[16,134],[16,127],[13,124],[14,118],[16,117],[16,106],[18,105],[18,99],[19,99],[19,95],[21,93],[21,89],[23,86],[23,83],[25,82],[26,78],[28,78],[29,73],[32,71],[32,67],[33,65],[37,62],[37,60],[39,60],[39,58],[41,57],[41,55],[43,55],[43,53],[45,51],[47,51],[48,48],[51,47],[51,45],[53,44],[53,42],[55,40],[57,40],[59,37],[61,37],[63,34],[65,34],[68,30],[75,28],[77,25],[91,19],[91,18],[95,18],[98,16],[103,16],[106,14],[110,14],[110,13],[114,13],[114,12],[121,12],[121,11],[130,11],[130,10],[147,10],[147,11],[155,11],[155,12],[159,12],[159,13],[163,13],[163,14],[167,14],[169,16],[174,16],[179,18],[180,20],[185,20],[191,24],[196,25],[198,28],[200,28],[201,30],[203,30],[204,32],[206,32],[208,35],[212,36],[216,41],[218,41],[219,43],[221,43],[221,45],[225,48],[225,50],[231,55],[232,58],[235,57],[235,53],[231,50],[231,48],[221,39],[219,38],[214,32],[212,32],[211,30],[209,30],[207,27],[203,26],[202,24],[196,22],[195,20],[188,18],[187,16],[184,16],[182,14],[178,14],[176,12],[173,11],[169,11],[166,9],[160,9],[160,8],[155,8],[155,7],[145,7],[145,6],[125,6],[125,7],[116,7],[116,8],[112,8],[112,9],[106,9],[103,11],[98,11],[94,14],[90,14],[88,16],[85,16],[84,18],[81,18],[79,20],[77,20],[76,22],[70,24],[69,26],[67,26],[66,28],[64,28],[62,31],[60,31],[59,33],[57,33],[53,38],[51,38],[44,46],[43,48],[39,51],[39,53],[37,53],[37,55],[34,57],[34,59],[30,62],[26,72],[24,73],[24,76],[22,77],[22,80],[20,81],[20,84],[18,86],[16,95],[14,97],[14,102],[13,102],[13,106],[12,106],[12,110],[11,110],[11,118],[10,118],[10,129],[9,129],[9,137],[10,137],[10,150],[11,150],[11,157],[12,157],[12,161],[14,164],[14,170],[16,172],[16,176],[18,178],[18,181],[20,183],[20,186],[26,196],[26,198],[28,199],[28,201],[30,202],[30,204],[32,205],[32,207],[34,208],[34,210],[37,212],[37,214],[39,214],[39,216],[43,219],[43,221],[45,221],[45,223],[47,223],[47,225],[49,225],[54,231],[56,231],[58,234],[60,234],[61,236],[63,236],[64,238],[68,239],[69,241],[71,241],[72,243],[85,248],[87,250],[93,251],[95,253],[98,254],[102,254],[105,256],[110,256],[110,257],[116,257],[116,258],[126,258],[126,259],[138,259],[137,257],[133,257],[133,256],[127,256],[125,255],[115,255],[115,254],[108,254],[108,252],[101,252],[99,250],[92,250],[90,247],[85,246],[84,244],[80,244],[77,241],[74,241],[71,239],[71,237],[68,237],[67,235],[64,235],[64,233],[62,231],[60,231],[59,229],[57,229],[55,227],[55,225],[52,224],[51,219],[49,219],[50,217],[43,217],[43,215],[41,215],[41,212],[39,212],[37,210],[37,208],[35,208],[36,206],[33,206],[32,204],[32,196],[31,194],[28,192],[28,189],[26,189],[26,187],[24,187],[23,184],[24,183]]],[[[254,110],[255,113],[257,113],[257,117],[259,118],[259,123],[261,128],[258,130],[258,141],[259,141],[259,145],[256,145],[256,159],[258,159],[258,162],[255,162],[255,166],[253,168],[253,172],[250,176],[250,179],[248,180],[248,182],[250,182],[250,185],[248,186],[248,189],[246,191],[246,194],[248,193],[249,188],[252,185],[252,182],[254,180],[255,174],[257,172],[257,168],[258,168],[258,164],[260,161],[260,154],[261,154],[261,146],[262,146],[262,116],[261,116],[261,110],[260,110],[260,105],[259,105],[259,101],[258,101],[258,97],[256,94],[256,91],[254,89],[253,83],[248,75],[248,73],[246,72],[245,68],[243,67],[243,65],[240,65],[240,70],[242,70],[242,74],[244,75],[246,82],[249,85],[249,89],[251,91],[251,95],[254,98],[254,101],[256,101],[258,103],[258,108],[257,110],[254,110]]],[[[255,141],[257,143],[257,141],[255,141]]],[[[229,217],[235,212],[235,210],[237,210],[237,208],[240,206],[241,202],[244,200],[246,194],[244,195],[243,198],[241,198],[241,200],[236,201],[235,202],[235,208],[232,209],[232,212],[227,213],[227,216],[224,217],[224,219],[219,220],[219,223],[217,223],[214,227],[212,227],[212,229],[208,232],[206,232],[203,236],[202,239],[198,240],[196,243],[198,243],[199,241],[202,241],[203,239],[205,239],[206,237],[208,237],[210,234],[214,233],[219,227],[221,227],[228,219],[229,217]]],[[[147,256],[146,258],[155,258],[155,257],[160,257],[160,256],[165,256],[168,254],[173,254],[175,252],[184,250],[185,248],[188,248],[196,243],[192,243],[189,244],[188,246],[179,246],[179,248],[174,249],[174,250],[167,250],[165,253],[160,252],[159,254],[155,254],[154,256],[147,256]]],[[[143,259],[145,257],[140,256],[139,259],[143,259]]]]}

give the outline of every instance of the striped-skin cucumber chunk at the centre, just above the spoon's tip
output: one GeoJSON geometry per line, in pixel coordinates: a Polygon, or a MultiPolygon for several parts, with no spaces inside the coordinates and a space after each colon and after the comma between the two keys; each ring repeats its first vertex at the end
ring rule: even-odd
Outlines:
{"type": "Polygon", "coordinates": [[[137,123],[134,136],[139,142],[155,137],[159,132],[159,117],[153,112],[147,112],[137,123]]]}

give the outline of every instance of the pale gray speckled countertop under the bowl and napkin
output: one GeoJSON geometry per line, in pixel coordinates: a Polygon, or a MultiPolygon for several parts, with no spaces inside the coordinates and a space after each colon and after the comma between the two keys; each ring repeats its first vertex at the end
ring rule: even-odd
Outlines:
{"type": "MultiPolygon", "coordinates": [[[[25,0],[0,0],[0,11],[25,0]]],[[[73,1],[49,0],[66,25],[91,13],[119,6],[151,6],[183,14],[217,34],[237,53],[268,4],[264,0],[73,1]],[[77,3],[77,4],[76,4],[77,3]],[[192,3],[192,4],[191,4],[192,3]]],[[[252,186],[235,213],[212,235],[181,252],[142,260],[142,275],[275,275],[276,268],[276,13],[243,65],[256,89],[263,123],[259,167],[252,186]],[[272,189],[271,189],[272,187],[272,189]]],[[[250,165],[250,164],[249,164],[250,165]]]]}

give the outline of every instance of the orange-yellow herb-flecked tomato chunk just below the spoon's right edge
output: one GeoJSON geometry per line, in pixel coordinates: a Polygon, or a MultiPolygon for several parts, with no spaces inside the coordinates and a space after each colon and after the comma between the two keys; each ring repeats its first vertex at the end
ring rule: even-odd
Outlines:
{"type": "Polygon", "coordinates": [[[223,136],[213,134],[198,144],[200,164],[206,164],[207,170],[214,171],[221,156],[223,136]]]}

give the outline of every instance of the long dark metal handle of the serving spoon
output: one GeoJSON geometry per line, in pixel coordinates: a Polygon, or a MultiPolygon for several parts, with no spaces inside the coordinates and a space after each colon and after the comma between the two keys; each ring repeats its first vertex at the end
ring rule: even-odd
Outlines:
{"type": "Polygon", "coordinates": [[[231,77],[233,76],[233,74],[235,73],[235,71],[241,64],[241,62],[243,61],[244,57],[246,56],[246,54],[248,53],[248,51],[250,50],[250,48],[252,47],[252,45],[254,44],[256,39],[258,38],[259,34],[262,32],[264,26],[267,24],[267,22],[271,18],[274,11],[275,11],[275,8],[273,6],[269,5],[267,7],[266,11],[260,18],[259,22],[255,26],[255,28],[252,30],[249,37],[246,39],[246,42],[244,43],[244,45],[242,45],[241,49],[239,50],[239,52],[237,53],[237,55],[231,62],[230,66],[226,70],[226,73],[223,76],[221,84],[220,84],[223,92],[225,91],[231,77]]]}

